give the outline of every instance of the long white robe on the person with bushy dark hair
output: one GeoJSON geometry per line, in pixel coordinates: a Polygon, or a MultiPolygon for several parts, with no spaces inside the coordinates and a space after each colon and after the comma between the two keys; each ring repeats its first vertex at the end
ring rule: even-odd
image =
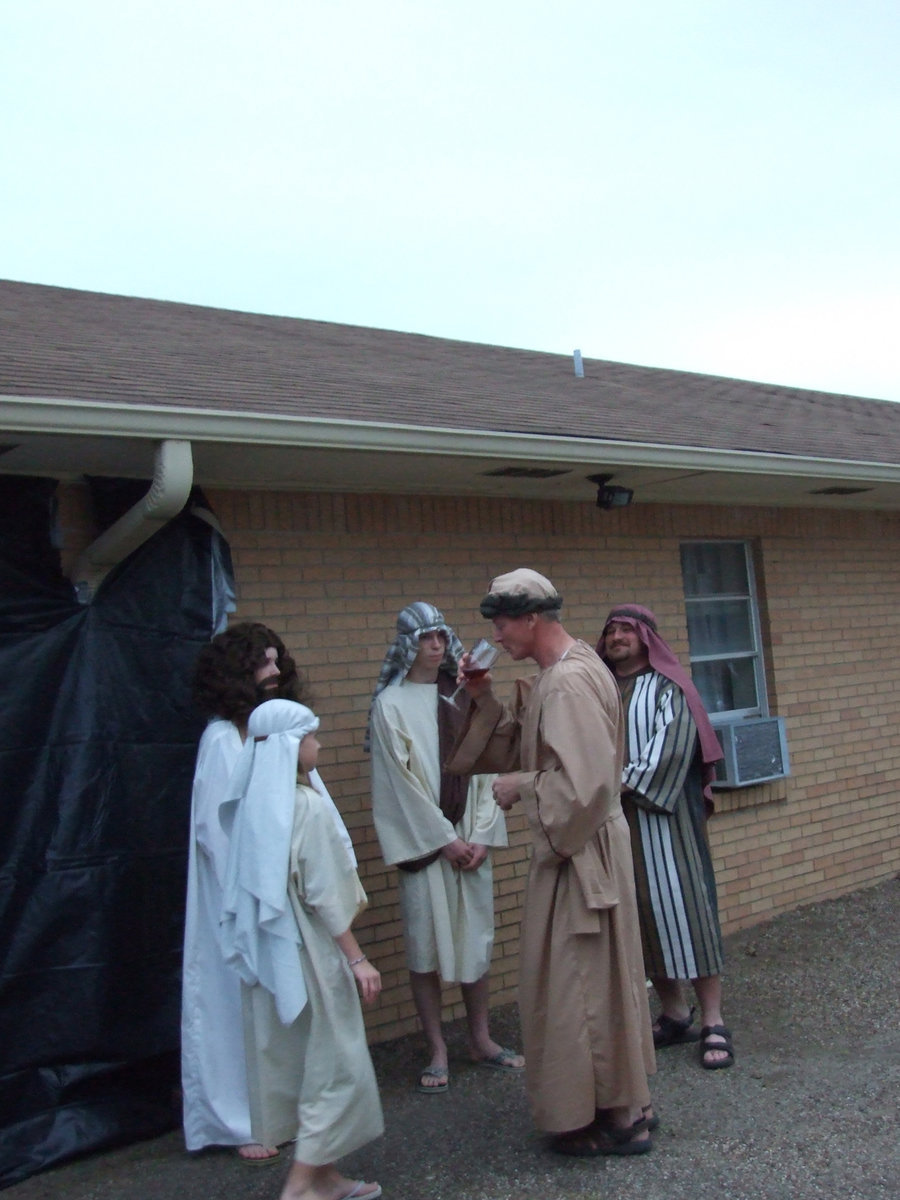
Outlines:
{"type": "Polygon", "coordinates": [[[181,1092],[185,1144],[244,1146],[252,1138],[244,1057],[240,979],[218,946],[228,838],[218,806],[241,751],[230,721],[200,738],[191,802],[181,991],[181,1092]]]}

